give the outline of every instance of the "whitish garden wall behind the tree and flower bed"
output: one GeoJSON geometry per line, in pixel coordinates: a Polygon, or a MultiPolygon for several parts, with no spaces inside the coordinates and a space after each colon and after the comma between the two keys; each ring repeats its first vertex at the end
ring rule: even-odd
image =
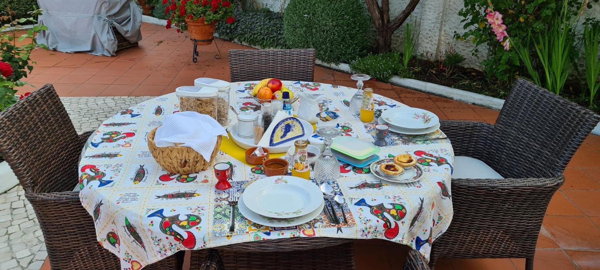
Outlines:
{"type": "MultiPolygon", "coordinates": [[[[268,7],[273,11],[281,11],[285,8],[289,0],[255,0],[257,4],[268,7]]],[[[391,0],[391,17],[395,17],[406,7],[408,0],[391,0]]],[[[458,53],[466,57],[465,66],[480,68],[478,59],[471,55],[474,45],[470,41],[458,41],[454,39],[454,32],[463,33],[463,23],[460,21],[463,17],[458,16],[458,11],[463,8],[463,0],[421,0],[415,8],[409,20],[416,21],[419,29],[418,44],[415,51],[416,55],[430,54],[433,59],[437,59],[440,54],[448,48],[448,43],[455,48],[458,53]]],[[[586,10],[584,17],[600,18],[600,5],[595,4],[592,10],[586,10]]],[[[408,21],[408,20],[407,20],[408,21]]],[[[581,20],[583,21],[583,20],[581,20]]],[[[396,31],[392,41],[392,47],[401,50],[403,28],[396,31]]],[[[485,57],[484,45],[480,47],[482,53],[479,57],[485,57]]]]}

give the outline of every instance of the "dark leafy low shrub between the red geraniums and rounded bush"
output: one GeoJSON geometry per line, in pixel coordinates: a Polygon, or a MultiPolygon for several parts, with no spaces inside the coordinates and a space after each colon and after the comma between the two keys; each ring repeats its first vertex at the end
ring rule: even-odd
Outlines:
{"type": "Polygon", "coordinates": [[[286,48],[283,14],[268,9],[235,11],[235,23],[217,23],[219,37],[263,48],[286,48]]]}

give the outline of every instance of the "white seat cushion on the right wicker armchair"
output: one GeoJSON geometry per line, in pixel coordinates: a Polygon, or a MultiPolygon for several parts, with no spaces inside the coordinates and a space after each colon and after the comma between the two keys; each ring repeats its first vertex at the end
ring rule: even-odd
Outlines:
{"type": "Polygon", "coordinates": [[[466,156],[454,157],[454,172],[452,178],[467,178],[467,179],[503,179],[502,175],[494,171],[487,164],[479,159],[466,156]]]}

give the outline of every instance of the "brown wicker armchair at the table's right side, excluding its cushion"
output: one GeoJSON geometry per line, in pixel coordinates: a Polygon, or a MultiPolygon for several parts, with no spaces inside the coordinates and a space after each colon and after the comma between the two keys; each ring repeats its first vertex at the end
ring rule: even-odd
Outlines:
{"type": "Polygon", "coordinates": [[[548,202],[600,116],[529,81],[517,80],[496,125],[444,121],[457,156],[482,160],[506,179],[452,179],[454,217],[434,243],[430,267],[445,258],[533,255],[548,202]]]}

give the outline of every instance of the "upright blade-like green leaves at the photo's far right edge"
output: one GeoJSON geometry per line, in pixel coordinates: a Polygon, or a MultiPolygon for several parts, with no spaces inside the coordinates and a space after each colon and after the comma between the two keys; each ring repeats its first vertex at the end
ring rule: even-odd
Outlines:
{"type": "Polygon", "coordinates": [[[600,38],[600,26],[587,23],[583,31],[583,51],[586,57],[586,81],[590,94],[590,107],[593,105],[594,97],[600,88],[600,58],[598,58],[598,39],[600,38]]]}

